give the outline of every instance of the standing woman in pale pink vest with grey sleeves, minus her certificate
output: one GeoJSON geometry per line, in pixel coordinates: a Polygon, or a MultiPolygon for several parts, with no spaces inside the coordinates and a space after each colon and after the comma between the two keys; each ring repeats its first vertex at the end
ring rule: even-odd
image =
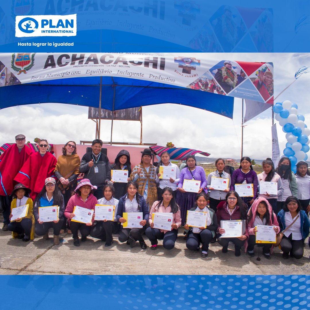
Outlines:
{"type": "MultiPolygon", "coordinates": [[[[258,196],[266,198],[269,204],[272,206],[273,212],[277,212],[278,196],[281,196],[284,192],[284,188],[282,187],[282,180],[280,175],[278,175],[277,172],[275,171],[271,158],[265,159],[262,163],[262,166],[264,171],[257,176],[258,184],[260,184],[260,182],[276,182],[278,186],[278,193],[277,195],[272,195],[266,192],[264,194],[259,194],[258,196]]],[[[258,185],[258,191],[259,191],[259,185],[258,185]]]]}

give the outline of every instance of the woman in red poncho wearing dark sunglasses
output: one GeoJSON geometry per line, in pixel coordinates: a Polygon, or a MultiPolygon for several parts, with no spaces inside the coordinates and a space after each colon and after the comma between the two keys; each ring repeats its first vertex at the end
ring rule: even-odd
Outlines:
{"type": "Polygon", "coordinates": [[[44,180],[48,177],[54,177],[57,160],[55,156],[47,152],[48,147],[47,140],[41,139],[38,142],[39,152],[32,153],[29,156],[14,179],[31,189],[30,198],[33,201],[44,187],[44,180]]]}

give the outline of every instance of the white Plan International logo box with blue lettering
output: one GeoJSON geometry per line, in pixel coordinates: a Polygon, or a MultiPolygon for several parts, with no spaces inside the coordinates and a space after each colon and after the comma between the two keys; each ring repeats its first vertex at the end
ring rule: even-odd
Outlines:
{"type": "Polygon", "coordinates": [[[16,16],[15,37],[71,37],[77,35],[77,15],[16,16]]]}

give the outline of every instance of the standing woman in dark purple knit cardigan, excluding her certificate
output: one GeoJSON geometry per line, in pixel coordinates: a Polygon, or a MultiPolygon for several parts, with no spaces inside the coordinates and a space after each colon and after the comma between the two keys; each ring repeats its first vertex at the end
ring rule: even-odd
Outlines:
{"type": "Polygon", "coordinates": [[[230,190],[235,190],[235,184],[253,184],[253,197],[241,197],[241,199],[247,204],[248,208],[252,205],[257,198],[257,186],[258,179],[257,174],[253,170],[250,157],[242,157],[240,160],[239,169],[232,173],[232,182],[230,190]]]}

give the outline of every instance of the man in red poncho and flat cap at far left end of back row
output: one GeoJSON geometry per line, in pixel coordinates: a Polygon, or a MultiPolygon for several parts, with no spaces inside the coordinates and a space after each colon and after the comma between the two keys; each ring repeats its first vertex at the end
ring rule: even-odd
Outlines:
{"type": "Polygon", "coordinates": [[[20,168],[33,153],[32,150],[25,146],[26,137],[17,135],[15,144],[12,144],[0,157],[0,195],[3,204],[3,231],[7,231],[7,225],[10,223],[11,200],[9,196],[18,182],[14,181],[20,168]]]}

